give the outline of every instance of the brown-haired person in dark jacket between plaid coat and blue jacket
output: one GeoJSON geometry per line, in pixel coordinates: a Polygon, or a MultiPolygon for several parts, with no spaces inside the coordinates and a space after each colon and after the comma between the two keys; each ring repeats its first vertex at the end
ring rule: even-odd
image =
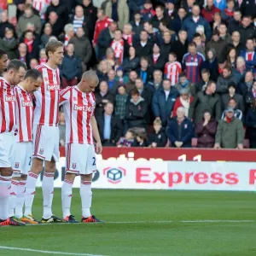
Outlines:
{"type": "Polygon", "coordinates": [[[146,128],[148,105],[137,89],[131,90],[131,100],[127,103],[125,120],[128,128],[146,128]]]}

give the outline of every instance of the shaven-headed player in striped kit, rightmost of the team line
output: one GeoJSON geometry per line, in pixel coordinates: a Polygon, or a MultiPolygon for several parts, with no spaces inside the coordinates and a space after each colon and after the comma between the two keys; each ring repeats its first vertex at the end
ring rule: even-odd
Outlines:
{"type": "Polygon", "coordinates": [[[102,153],[102,143],[94,116],[96,101],[93,91],[99,79],[95,72],[83,74],[77,86],[61,90],[60,104],[66,119],[66,175],[61,189],[63,219],[69,223],[78,222],[71,215],[73,181],[80,175],[80,196],[82,201],[82,222],[102,222],[90,214],[91,179],[96,171],[96,154],[102,153]],[[96,140],[96,149],[93,143],[96,140]]]}

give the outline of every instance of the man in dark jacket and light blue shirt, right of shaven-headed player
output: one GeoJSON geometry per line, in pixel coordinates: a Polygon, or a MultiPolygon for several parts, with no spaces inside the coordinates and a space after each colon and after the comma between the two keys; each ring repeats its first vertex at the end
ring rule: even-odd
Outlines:
{"type": "Polygon", "coordinates": [[[106,102],[104,106],[104,113],[96,115],[96,119],[102,140],[102,146],[115,146],[122,136],[123,125],[119,115],[113,115],[113,103],[106,102]]]}

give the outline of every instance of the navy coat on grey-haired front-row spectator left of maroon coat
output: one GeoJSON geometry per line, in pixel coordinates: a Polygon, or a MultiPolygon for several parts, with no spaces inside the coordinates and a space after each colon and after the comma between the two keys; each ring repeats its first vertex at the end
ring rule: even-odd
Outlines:
{"type": "Polygon", "coordinates": [[[168,121],[166,134],[173,148],[176,148],[175,142],[182,142],[182,148],[191,148],[194,127],[192,122],[186,117],[179,126],[176,117],[168,121]]]}

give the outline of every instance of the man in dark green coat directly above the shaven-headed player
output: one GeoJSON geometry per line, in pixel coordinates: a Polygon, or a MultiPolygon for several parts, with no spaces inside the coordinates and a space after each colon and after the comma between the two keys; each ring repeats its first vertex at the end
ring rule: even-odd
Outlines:
{"type": "Polygon", "coordinates": [[[75,55],[81,60],[82,69],[85,72],[92,55],[92,49],[89,39],[84,36],[83,27],[79,27],[76,36],[71,38],[69,43],[74,45],[75,55]]]}

